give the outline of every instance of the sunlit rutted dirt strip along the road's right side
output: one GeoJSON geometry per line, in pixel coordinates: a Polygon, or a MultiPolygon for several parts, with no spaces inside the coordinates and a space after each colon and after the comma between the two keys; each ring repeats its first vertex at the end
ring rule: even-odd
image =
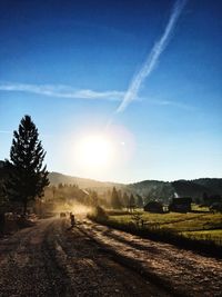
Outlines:
{"type": "Polygon", "coordinates": [[[103,245],[119,261],[180,296],[221,296],[222,261],[179,249],[169,244],[141,239],[84,220],[88,236],[103,245]]]}

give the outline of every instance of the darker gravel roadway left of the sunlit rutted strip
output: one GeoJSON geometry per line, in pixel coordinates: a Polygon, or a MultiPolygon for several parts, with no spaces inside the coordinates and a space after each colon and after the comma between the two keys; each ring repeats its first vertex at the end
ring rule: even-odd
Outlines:
{"type": "Polygon", "coordinates": [[[65,219],[0,240],[0,296],[170,296],[65,219]]]}

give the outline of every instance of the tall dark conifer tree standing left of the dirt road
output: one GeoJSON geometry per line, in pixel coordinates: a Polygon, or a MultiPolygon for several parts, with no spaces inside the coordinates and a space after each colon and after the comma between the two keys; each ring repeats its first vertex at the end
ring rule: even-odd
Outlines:
{"type": "Polygon", "coordinates": [[[10,168],[7,190],[10,201],[22,204],[23,215],[28,202],[43,196],[49,185],[47,167],[42,168],[46,151],[39,140],[39,132],[30,116],[21,119],[18,131],[13,132],[10,150],[10,168]]]}

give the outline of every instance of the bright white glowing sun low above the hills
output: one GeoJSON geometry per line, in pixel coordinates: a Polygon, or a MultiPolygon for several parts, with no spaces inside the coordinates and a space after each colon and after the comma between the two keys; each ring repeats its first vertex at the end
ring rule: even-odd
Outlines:
{"type": "Polygon", "coordinates": [[[113,143],[104,135],[82,137],[77,143],[77,158],[88,168],[108,167],[113,159],[113,143]]]}

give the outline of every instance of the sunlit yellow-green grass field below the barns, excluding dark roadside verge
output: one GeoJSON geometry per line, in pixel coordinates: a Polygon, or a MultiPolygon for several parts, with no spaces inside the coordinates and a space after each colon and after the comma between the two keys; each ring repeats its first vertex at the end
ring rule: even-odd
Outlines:
{"type": "Polygon", "coordinates": [[[142,234],[150,230],[159,232],[170,232],[202,242],[213,242],[222,247],[222,214],[205,212],[168,212],[150,214],[138,210],[133,214],[127,211],[108,211],[107,225],[128,229],[128,226],[137,226],[142,234]],[[138,215],[139,224],[134,215],[138,215]],[[141,221],[143,220],[143,225],[141,221]]]}

